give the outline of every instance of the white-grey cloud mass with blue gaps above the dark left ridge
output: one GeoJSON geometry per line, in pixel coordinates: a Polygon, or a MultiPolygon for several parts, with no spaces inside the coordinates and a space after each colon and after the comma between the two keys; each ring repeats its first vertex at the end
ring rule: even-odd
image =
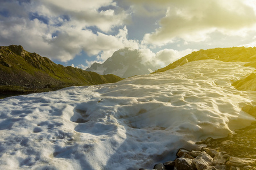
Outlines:
{"type": "Polygon", "coordinates": [[[106,59],[110,51],[137,45],[127,40],[127,29],[122,26],[127,14],[112,0],[10,0],[1,4],[0,12],[1,45],[23,45],[30,52],[63,62],[82,50],[106,59]],[[118,33],[109,33],[120,26],[118,33]]]}

